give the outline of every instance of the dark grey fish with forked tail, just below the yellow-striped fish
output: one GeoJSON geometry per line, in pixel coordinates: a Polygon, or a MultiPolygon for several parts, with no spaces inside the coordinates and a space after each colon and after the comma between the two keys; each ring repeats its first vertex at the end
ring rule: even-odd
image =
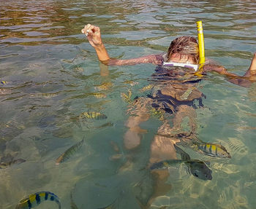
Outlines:
{"type": "Polygon", "coordinates": [[[160,162],[155,162],[150,166],[150,170],[168,169],[172,165],[184,162],[189,169],[189,173],[192,173],[193,176],[200,178],[204,181],[212,179],[212,171],[210,168],[208,168],[205,162],[198,159],[190,159],[189,154],[187,154],[175,144],[173,146],[175,147],[176,152],[178,154],[181,154],[181,159],[167,159],[160,162]]]}

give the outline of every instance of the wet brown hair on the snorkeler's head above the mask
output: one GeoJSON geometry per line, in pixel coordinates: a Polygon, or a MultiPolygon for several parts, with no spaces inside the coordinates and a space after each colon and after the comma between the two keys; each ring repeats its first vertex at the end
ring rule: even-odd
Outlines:
{"type": "Polygon", "coordinates": [[[167,58],[170,59],[170,56],[174,53],[178,53],[181,58],[184,55],[189,55],[192,57],[195,63],[198,63],[199,50],[197,39],[192,36],[180,36],[174,39],[173,42],[170,43],[170,47],[167,52],[167,58]]]}

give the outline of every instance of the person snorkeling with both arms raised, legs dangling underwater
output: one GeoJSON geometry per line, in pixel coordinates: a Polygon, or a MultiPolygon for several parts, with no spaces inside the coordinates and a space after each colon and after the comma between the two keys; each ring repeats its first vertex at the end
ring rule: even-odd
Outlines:
{"type": "MultiPolygon", "coordinates": [[[[164,111],[173,114],[173,126],[171,127],[167,120],[159,127],[157,135],[151,143],[151,164],[165,159],[176,159],[176,149],[174,145],[181,141],[178,131],[181,130],[181,122],[185,117],[189,118],[189,133],[184,134],[193,138],[196,133],[196,114],[195,109],[203,106],[202,92],[197,89],[197,84],[203,79],[207,72],[214,71],[226,76],[229,82],[238,84],[241,87],[250,87],[256,81],[256,53],[252,58],[252,63],[244,76],[238,76],[228,72],[224,67],[217,65],[212,60],[206,60],[206,63],[200,68],[200,76],[195,74],[195,68],[199,62],[199,50],[197,40],[192,36],[180,36],[170,43],[170,47],[165,54],[146,55],[140,58],[128,60],[119,60],[110,58],[101,39],[99,27],[95,25],[85,25],[82,29],[89,43],[94,47],[100,62],[107,66],[135,65],[140,63],[152,63],[157,65],[156,71],[151,77],[154,87],[151,89],[151,95],[144,98],[136,98],[133,103],[135,110],[132,116],[127,120],[127,133],[124,135],[124,146],[127,149],[134,149],[140,145],[140,133],[143,130],[139,125],[146,121],[150,114],[149,109],[164,111]],[[165,63],[184,63],[184,67],[167,66],[165,63]],[[203,76],[202,76],[203,75],[203,76]],[[195,101],[198,105],[195,105],[195,101]]],[[[181,133],[181,132],[180,132],[181,133]]],[[[164,182],[168,176],[166,170],[156,171],[156,188],[153,197],[158,197],[170,189],[164,182]]]]}

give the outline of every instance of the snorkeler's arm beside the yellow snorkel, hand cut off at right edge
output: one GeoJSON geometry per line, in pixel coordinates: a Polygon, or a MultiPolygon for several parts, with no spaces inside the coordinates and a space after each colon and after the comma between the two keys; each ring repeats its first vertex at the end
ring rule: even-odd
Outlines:
{"type": "Polygon", "coordinates": [[[203,71],[214,71],[219,74],[227,76],[229,82],[238,84],[241,87],[250,87],[252,82],[256,82],[256,53],[252,58],[252,63],[244,76],[238,76],[227,71],[223,66],[217,66],[214,64],[206,64],[203,66],[203,71]]]}

